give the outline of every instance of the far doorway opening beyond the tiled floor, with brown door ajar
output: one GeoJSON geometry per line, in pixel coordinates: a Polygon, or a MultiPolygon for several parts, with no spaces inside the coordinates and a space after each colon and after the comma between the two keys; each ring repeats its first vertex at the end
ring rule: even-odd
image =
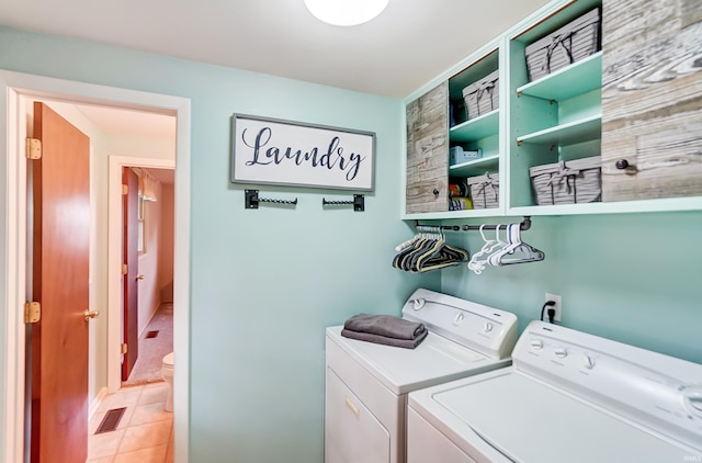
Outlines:
{"type": "Polygon", "coordinates": [[[173,351],[173,170],[123,167],[122,387],[162,381],[173,351]],[[126,194],[125,194],[126,193],[126,194]]]}

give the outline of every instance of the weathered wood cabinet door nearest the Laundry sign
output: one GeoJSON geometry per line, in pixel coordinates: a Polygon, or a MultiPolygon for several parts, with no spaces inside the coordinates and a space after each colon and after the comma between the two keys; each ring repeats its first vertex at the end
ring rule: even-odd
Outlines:
{"type": "Polygon", "coordinates": [[[407,105],[407,214],[449,211],[449,82],[407,105]]]}

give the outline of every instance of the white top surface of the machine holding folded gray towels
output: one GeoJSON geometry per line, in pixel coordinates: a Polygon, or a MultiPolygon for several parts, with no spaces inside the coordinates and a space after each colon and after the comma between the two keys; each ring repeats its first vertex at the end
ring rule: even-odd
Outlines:
{"type": "Polygon", "coordinates": [[[327,328],[327,337],[396,395],[510,362],[509,359],[490,359],[431,331],[417,348],[404,349],[344,338],[341,328],[327,328]]]}

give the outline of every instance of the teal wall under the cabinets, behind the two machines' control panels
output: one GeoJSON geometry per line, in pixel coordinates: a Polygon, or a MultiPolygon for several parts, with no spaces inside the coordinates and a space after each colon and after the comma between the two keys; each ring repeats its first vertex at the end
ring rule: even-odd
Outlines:
{"type": "MultiPolygon", "coordinates": [[[[522,239],[544,261],[444,270],[442,291],[514,312],[520,329],[559,294],[564,326],[702,363],[701,237],[702,212],[532,217],[522,239]]],[[[450,240],[483,244],[478,232],[450,240]]]]}

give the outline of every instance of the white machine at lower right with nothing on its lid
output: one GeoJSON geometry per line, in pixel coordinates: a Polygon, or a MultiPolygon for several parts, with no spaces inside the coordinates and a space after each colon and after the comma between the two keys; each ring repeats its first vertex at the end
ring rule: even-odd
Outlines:
{"type": "Polygon", "coordinates": [[[702,461],[702,365],[543,321],[408,408],[410,463],[702,461]]]}

